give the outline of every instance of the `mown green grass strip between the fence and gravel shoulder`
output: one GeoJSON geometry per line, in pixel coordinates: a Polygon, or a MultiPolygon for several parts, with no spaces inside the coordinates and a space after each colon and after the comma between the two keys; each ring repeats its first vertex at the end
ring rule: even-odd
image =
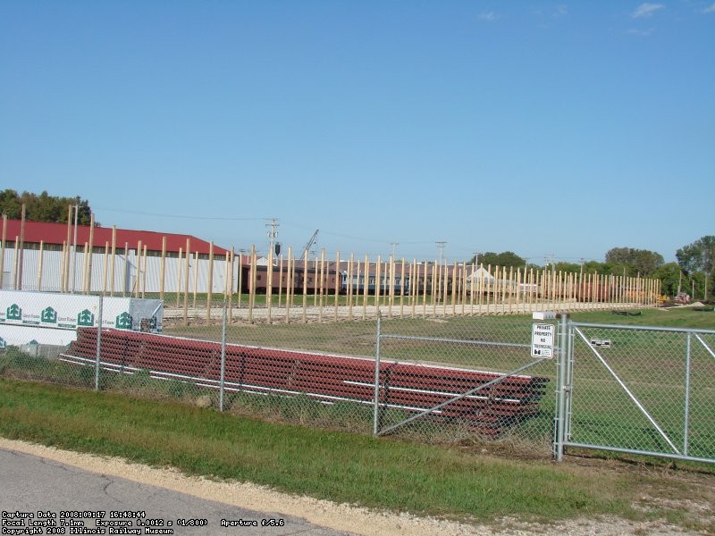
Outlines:
{"type": "Polygon", "coordinates": [[[450,518],[634,515],[623,476],[458,448],[263,423],[210,409],[0,379],[0,435],[255,482],[365,507],[450,518]]]}

